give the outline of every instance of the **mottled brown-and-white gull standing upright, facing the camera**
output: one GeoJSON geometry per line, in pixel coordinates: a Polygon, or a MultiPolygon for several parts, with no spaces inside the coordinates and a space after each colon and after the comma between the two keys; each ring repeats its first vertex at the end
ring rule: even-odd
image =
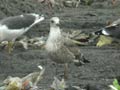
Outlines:
{"type": "MultiPolygon", "coordinates": [[[[50,33],[48,40],[46,42],[46,51],[50,56],[50,59],[56,63],[64,64],[64,78],[67,78],[68,63],[71,62],[80,62],[81,54],[79,53],[79,58],[71,52],[69,47],[65,45],[65,37],[63,36],[61,29],[59,27],[60,20],[58,17],[52,17],[50,20],[50,33]]],[[[78,50],[78,49],[77,49],[78,50]]],[[[85,58],[82,56],[82,59],[85,58]]],[[[84,62],[83,62],[84,63],[84,62]]]]}

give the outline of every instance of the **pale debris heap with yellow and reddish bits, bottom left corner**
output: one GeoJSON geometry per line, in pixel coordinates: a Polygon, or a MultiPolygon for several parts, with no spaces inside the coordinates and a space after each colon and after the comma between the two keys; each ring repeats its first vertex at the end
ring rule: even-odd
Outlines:
{"type": "Polygon", "coordinates": [[[45,68],[38,66],[40,72],[33,72],[20,78],[9,76],[3,81],[0,90],[38,90],[38,82],[42,79],[45,68]]]}

